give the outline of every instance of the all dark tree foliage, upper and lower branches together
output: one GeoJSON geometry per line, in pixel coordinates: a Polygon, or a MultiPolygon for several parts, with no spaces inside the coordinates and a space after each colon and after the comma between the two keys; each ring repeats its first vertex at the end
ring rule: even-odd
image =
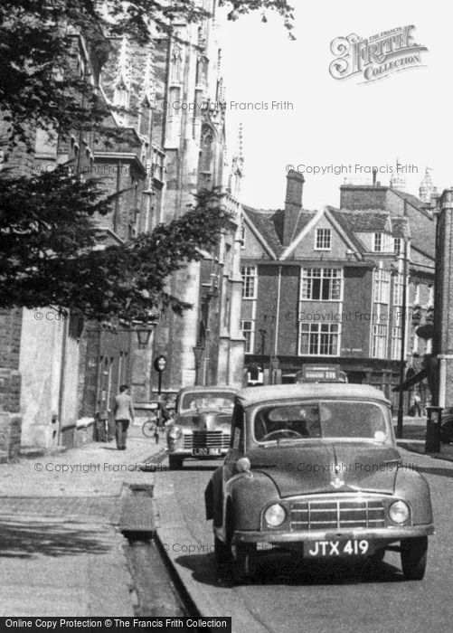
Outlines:
{"type": "MultiPolygon", "coordinates": [[[[221,0],[236,19],[250,11],[276,11],[288,32],[286,0],[221,0]]],[[[0,143],[6,156],[28,132],[56,135],[101,128],[107,107],[99,88],[75,71],[71,33],[81,33],[99,63],[109,56],[104,33],[149,41],[149,22],[171,33],[172,20],[206,16],[198,0],[2,0],[0,4],[0,143]],[[107,12],[105,7],[107,6],[107,12]]],[[[29,151],[32,151],[29,146],[29,151]]],[[[226,220],[218,192],[199,195],[183,218],[149,235],[105,250],[93,249],[95,218],[109,213],[95,180],[80,182],[55,171],[17,178],[0,175],[0,307],[77,307],[87,316],[143,318],[156,307],[189,307],[168,294],[168,275],[212,247],[226,220]]]]}

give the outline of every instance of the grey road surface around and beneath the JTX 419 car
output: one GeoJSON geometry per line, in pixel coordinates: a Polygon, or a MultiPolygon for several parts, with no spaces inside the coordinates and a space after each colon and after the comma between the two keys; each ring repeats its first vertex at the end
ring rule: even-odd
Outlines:
{"type": "Polygon", "coordinates": [[[399,553],[377,567],[308,566],[294,556],[260,552],[256,582],[231,586],[218,577],[203,492],[221,462],[184,462],[156,476],[159,537],[202,615],[232,617],[240,631],[418,631],[453,628],[453,463],[401,450],[428,478],[437,534],[429,537],[423,581],[403,581],[399,553]],[[206,612],[211,609],[212,612],[206,612]]]}

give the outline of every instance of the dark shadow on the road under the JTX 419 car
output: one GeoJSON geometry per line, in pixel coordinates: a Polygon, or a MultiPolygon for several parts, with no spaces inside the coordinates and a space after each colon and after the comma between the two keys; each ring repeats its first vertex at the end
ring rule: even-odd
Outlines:
{"type": "MultiPolygon", "coordinates": [[[[232,587],[228,575],[220,575],[213,554],[180,556],[178,564],[193,572],[193,580],[212,586],[232,587]]],[[[294,553],[259,553],[254,584],[262,585],[340,585],[366,582],[402,581],[401,570],[382,562],[307,562],[294,553]]]]}

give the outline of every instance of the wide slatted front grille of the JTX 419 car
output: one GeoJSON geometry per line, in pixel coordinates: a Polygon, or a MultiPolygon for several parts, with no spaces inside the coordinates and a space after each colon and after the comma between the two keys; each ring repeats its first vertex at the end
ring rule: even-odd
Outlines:
{"type": "Polygon", "coordinates": [[[291,506],[291,530],[336,530],[385,527],[381,499],[295,501],[291,506]]]}

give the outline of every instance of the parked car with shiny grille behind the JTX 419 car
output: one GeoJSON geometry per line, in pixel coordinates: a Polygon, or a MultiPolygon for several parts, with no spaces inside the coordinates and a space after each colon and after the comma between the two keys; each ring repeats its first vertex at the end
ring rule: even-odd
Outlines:
{"type": "Polygon", "coordinates": [[[175,421],[166,435],[170,469],[182,468],[186,458],[226,455],[236,392],[231,387],[185,387],[178,393],[175,421]]]}

